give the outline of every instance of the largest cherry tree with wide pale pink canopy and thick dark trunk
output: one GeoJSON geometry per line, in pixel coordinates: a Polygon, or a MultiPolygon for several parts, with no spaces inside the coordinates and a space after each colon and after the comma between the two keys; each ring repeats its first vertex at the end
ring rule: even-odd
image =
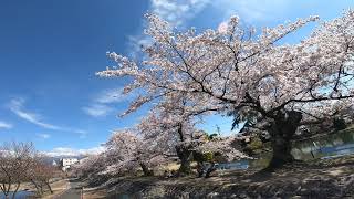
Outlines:
{"type": "Polygon", "coordinates": [[[132,80],[124,93],[144,91],[125,114],[170,95],[195,107],[232,113],[236,122],[267,122],[273,157],[270,167],[291,163],[291,139],[302,122],[346,107],[353,97],[354,11],[323,22],[296,44],[281,42],[317,17],[261,32],[231,17],[219,30],[179,32],[147,14],[142,62],[114,52],[117,66],[97,75],[132,80]]]}

